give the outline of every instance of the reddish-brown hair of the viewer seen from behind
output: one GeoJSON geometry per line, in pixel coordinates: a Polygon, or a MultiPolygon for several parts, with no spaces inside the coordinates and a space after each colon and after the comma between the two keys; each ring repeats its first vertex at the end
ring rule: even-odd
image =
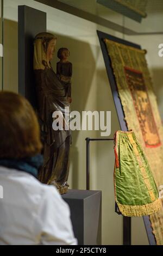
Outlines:
{"type": "Polygon", "coordinates": [[[30,103],[21,95],[0,92],[0,158],[39,154],[40,128],[30,103]]]}

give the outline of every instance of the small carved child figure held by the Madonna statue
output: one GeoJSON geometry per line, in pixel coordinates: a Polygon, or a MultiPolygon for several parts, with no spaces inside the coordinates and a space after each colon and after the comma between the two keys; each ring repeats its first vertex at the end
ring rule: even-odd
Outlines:
{"type": "Polygon", "coordinates": [[[58,58],[60,62],[57,63],[57,76],[65,86],[65,94],[68,101],[71,103],[71,77],[72,77],[72,63],[68,61],[70,51],[67,48],[60,48],[58,51],[58,58]]]}

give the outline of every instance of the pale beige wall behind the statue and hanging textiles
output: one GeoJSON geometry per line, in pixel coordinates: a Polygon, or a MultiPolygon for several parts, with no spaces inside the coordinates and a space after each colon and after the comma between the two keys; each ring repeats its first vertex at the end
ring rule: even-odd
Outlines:
{"type": "MultiPolygon", "coordinates": [[[[17,4],[26,1],[6,1],[4,9],[4,89],[17,92],[17,4]],[[15,4],[13,3],[15,2],[15,4]],[[7,4],[8,3],[8,4],[7,4]]],[[[70,50],[70,61],[73,63],[72,105],[71,110],[82,111],[111,111],[111,135],[120,129],[116,109],[112,99],[108,76],[96,30],[125,38],[146,48],[147,60],[154,82],[154,90],[162,112],[163,86],[161,80],[162,63],[158,57],[158,44],[162,36],[141,35],[124,36],[83,20],[63,11],[47,7],[34,1],[28,1],[30,7],[47,12],[47,28],[57,35],[57,50],[67,47],[70,50]],[[150,42],[150,43],[149,43],[150,42]],[[161,89],[162,88],[162,89],[161,89]]],[[[117,19],[122,20],[118,15],[117,19]]],[[[116,15],[112,17],[116,21],[116,15]]],[[[53,67],[57,63],[53,60],[53,67]]],[[[70,188],[85,189],[86,187],[86,137],[99,137],[99,131],[74,131],[72,133],[70,188]]],[[[114,150],[112,142],[91,142],[91,189],[102,190],[102,242],[108,245],[122,244],[122,216],[114,212],[114,150]]],[[[147,235],[142,218],[132,218],[132,244],[147,245],[147,235]]]]}

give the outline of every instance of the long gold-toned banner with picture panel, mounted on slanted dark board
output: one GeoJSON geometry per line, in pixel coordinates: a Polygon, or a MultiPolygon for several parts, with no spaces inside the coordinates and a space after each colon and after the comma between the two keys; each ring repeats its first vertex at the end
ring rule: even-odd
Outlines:
{"type": "MultiPolygon", "coordinates": [[[[163,185],[163,130],[144,50],[104,39],[128,130],[133,130],[159,188],[163,185]]],[[[162,209],[150,216],[153,234],[163,245],[162,209]]]]}

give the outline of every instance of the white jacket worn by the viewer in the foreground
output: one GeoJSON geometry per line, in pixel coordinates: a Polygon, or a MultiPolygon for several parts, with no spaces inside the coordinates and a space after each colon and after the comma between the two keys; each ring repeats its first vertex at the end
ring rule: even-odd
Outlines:
{"type": "Polygon", "coordinates": [[[0,166],[0,245],[76,245],[70,210],[52,185],[0,166]]]}

